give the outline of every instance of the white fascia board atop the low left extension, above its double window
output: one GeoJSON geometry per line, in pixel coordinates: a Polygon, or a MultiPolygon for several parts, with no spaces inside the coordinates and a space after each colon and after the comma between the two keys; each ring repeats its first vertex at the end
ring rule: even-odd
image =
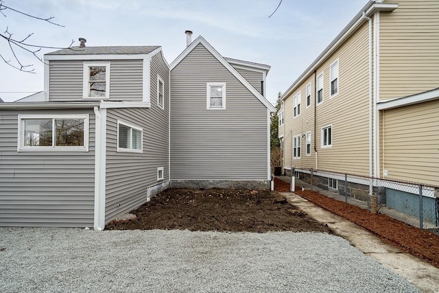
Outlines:
{"type": "Polygon", "coordinates": [[[0,109],[79,109],[99,106],[99,102],[29,102],[0,103],[0,109]]]}

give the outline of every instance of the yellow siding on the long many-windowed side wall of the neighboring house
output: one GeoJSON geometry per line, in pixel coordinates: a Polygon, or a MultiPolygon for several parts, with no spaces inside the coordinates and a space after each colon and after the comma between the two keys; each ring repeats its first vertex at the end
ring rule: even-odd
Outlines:
{"type": "Polygon", "coordinates": [[[316,168],[333,172],[368,175],[369,172],[369,87],[368,23],[364,22],[346,42],[316,70],[324,73],[323,102],[314,103],[316,84],[311,73],[285,99],[285,166],[316,168]],[[338,59],[337,95],[330,97],[330,66],[338,59]],[[311,106],[307,108],[306,86],[311,82],[311,106]],[[300,91],[300,115],[294,118],[293,97],[300,91]],[[332,147],[322,148],[322,127],[332,125],[332,147]],[[311,132],[311,156],[306,156],[306,132],[311,132]],[[300,136],[300,159],[292,159],[292,137],[300,136]],[[316,153],[318,151],[318,166],[316,153]]]}

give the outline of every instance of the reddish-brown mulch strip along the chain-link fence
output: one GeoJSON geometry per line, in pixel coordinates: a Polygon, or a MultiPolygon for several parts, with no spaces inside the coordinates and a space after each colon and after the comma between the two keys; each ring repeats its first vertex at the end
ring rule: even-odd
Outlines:
{"type": "MultiPolygon", "coordinates": [[[[288,192],[289,183],[274,178],[274,189],[280,192],[288,192]]],[[[300,188],[296,187],[296,190],[300,190],[300,188]]],[[[385,242],[406,253],[425,259],[439,268],[439,235],[394,220],[387,215],[370,213],[365,209],[328,198],[314,191],[305,190],[295,191],[294,193],[366,228],[381,237],[385,242]]]]}

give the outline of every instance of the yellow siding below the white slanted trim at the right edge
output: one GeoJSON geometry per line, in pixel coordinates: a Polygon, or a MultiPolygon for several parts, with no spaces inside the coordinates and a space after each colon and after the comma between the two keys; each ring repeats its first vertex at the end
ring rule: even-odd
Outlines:
{"type": "Polygon", "coordinates": [[[439,100],[383,111],[387,178],[439,186],[439,100]]]}

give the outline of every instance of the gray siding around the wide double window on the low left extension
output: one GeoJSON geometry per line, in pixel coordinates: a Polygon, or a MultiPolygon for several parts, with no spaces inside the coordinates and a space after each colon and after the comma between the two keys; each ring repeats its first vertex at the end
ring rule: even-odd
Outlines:
{"type": "Polygon", "coordinates": [[[93,110],[0,110],[0,133],[0,226],[93,226],[93,110]],[[17,152],[18,114],[88,114],[88,152],[17,152]]]}

